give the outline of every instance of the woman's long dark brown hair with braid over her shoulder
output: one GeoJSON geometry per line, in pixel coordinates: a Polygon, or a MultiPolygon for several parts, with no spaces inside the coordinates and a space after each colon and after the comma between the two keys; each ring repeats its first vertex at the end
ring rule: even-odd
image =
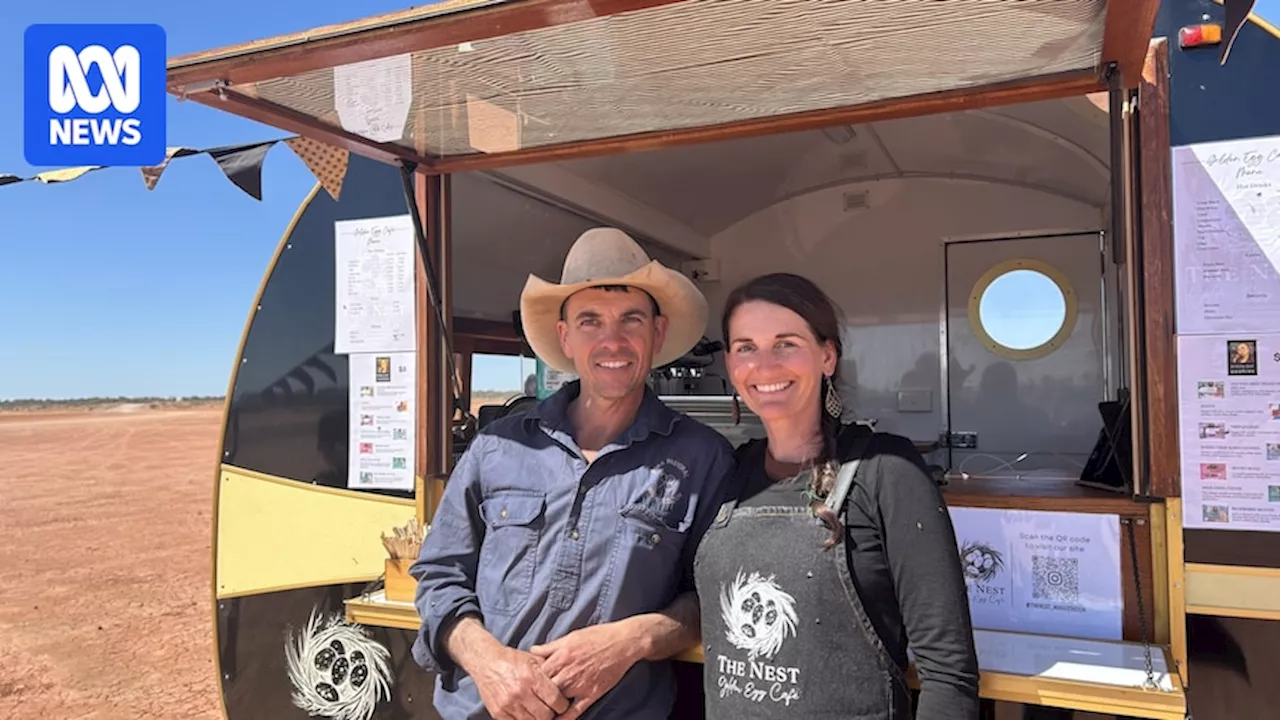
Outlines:
{"type": "Polygon", "coordinates": [[[840,314],[836,304],[808,278],[792,273],[760,275],[733,288],[724,300],[724,313],[721,315],[721,332],[726,343],[730,338],[730,319],[739,306],[750,301],[769,302],[800,315],[808,323],[810,332],[813,332],[818,342],[829,342],[836,351],[836,372],[832,377],[822,379],[818,395],[817,413],[820,418],[822,450],[796,475],[796,478],[809,478],[809,488],[806,491],[809,506],[814,515],[831,530],[831,537],[823,542],[823,547],[829,548],[840,542],[845,532],[840,518],[826,505],[826,498],[831,495],[836,484],[836,474],[840,470],[840,456],[836,443],[844,428],[840,418],[827,411],[824,402],[827,393],[835,392],[838,388],[840,360],[844,356],[844,343],[840,340],[840,314]]]}

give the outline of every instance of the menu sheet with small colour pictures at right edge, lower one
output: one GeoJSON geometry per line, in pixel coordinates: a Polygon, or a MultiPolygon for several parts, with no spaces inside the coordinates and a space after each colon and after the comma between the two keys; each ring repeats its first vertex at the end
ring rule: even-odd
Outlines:
{"type": "Polygon", "coordinates": [[[1178,338],[1183,527],[1280,530],[1280,334],[1178,338]]]}

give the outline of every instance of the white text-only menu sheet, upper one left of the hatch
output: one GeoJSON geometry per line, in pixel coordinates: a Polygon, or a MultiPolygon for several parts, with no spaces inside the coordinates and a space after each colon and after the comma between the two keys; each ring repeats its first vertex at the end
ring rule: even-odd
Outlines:
{"type": "Polygon", "coordinates": [[[334,242],[334,352],[413,352],[413,220],[339,220],[334,242]]]}

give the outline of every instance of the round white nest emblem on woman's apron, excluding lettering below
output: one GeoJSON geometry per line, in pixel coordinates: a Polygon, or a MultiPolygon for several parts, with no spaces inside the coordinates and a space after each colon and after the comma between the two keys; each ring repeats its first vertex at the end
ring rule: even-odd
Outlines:
{"type": "Polygon", "coordinates": [[[787,635],[796,634],[795,605],[795,598],[773,582],[773,575],[744,577],[739,570],[732,584],[721,585],[724,639],[746,651],[748,660],[772,659],[787,635]]]}

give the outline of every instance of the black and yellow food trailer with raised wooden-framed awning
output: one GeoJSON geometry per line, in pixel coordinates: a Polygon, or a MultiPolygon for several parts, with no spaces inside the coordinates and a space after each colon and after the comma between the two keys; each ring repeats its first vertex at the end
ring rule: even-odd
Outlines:
{"type": "MultiPolygon", "coordinates": [[[[1280,708],[1280,32],[1210,0],[449,0],[170,60],[329,182],[251,305],[216,470],[242,717],[434,717],[403,573],[518,293],[621,227],[712,316],[792,270],[847,420],[934,468],[984,712],[1280,708]],[[1229,53],[1228,53],[1229,50],[1229,53]],[[340,192],[335,187],[340,186],[340,192]],[[407,550],[406,550],[407,548],[407,550]]],[[[655,370],[733,442],[719,338],[655,370]]],[[[698,717],[699,648],[673,717],[698,717]]]]}

